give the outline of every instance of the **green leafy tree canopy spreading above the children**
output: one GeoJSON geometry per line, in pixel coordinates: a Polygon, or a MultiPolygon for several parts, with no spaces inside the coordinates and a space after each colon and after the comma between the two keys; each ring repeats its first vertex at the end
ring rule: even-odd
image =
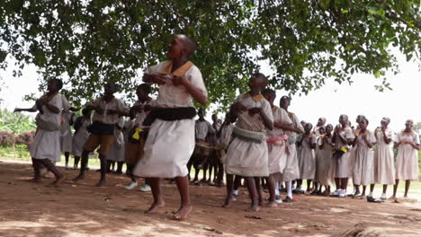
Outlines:
{"type": "Polygon", "coordinates": [[[134,94],[137,72],[166,57],[176,33],[198,42],[210,102],[227,106],[265,60],[275,89],[307,93],[354,73],[399,70],[390,47],[419,58],[418,0],[0,0],[0,66],[17,59],[60,77],[69,101],[91,99],[104,80],[134,94]]]}

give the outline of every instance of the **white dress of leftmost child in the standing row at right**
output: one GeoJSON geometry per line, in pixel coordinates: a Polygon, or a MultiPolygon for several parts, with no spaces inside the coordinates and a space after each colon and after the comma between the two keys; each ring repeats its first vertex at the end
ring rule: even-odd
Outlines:
{"type": "Polygon", "coordinates": [[[313,180],[316,177],[316,157],[310,144],[316,144],[316,136],[304,136],[300,148],[300,180],[313,180]]]}

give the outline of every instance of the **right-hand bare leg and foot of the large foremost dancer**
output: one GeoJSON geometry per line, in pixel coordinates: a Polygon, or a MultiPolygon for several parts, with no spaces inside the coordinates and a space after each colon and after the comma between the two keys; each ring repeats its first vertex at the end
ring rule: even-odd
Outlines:
{"type": "Polygon", "coordinates": [[[178,192],[181,197],[180,209],[173,215],[175,220],[184,220],[187,215],[192,211],[192,203],[190,202],[189,193],[189,180],[187,176],[175,177],[175,183],[177,184],[178,192]]]}

